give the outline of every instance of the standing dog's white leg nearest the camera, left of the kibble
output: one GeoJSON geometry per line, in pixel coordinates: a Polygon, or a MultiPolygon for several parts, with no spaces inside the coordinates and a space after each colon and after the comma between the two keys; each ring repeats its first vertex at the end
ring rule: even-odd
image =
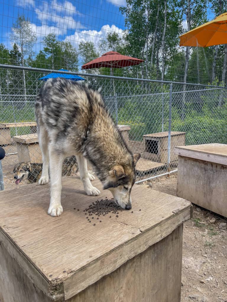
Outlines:
{"type": "Polygon", "coordinates": [[[60,216],[63,212],[61,206],[61,173],[64,154],[59,154],[54,146],[49,145],[50,178],[51,178],[51,201],[48,214],[60,216]]]}

